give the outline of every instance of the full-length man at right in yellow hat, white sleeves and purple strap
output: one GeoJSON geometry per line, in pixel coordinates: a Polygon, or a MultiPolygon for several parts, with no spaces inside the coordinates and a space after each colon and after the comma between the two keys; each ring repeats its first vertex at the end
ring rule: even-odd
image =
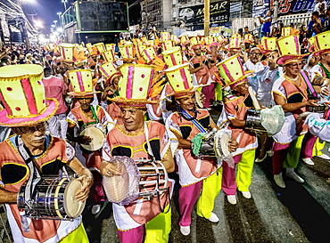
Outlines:
{"type": "Polygon", "coordinates": [[[274,155],[272,158],[274,180],[279,187],[285,188],[282,176],[282,168],[285,166],[286,175],[296,182],[304,180],[294,172],[299,163],[301,144],[304,147],[302,153],[311,150],[314,142],[310,136],[304,138],[308,129],[303,124],[299,114],[306,111],[306,107],[318,106],[316,92],[309,79],[307,71],[301,71],[302,57],[298,36],[285,36],[277,40],[277,48],[280,54],[277,64],[284,65],[284,75],[279,77],[273,85],[272,95],[276,105],[281,105],[285,111],[285,126],[273,136],[274,155]],[[308,93],[313,93],[314,100],[309,100],[308,93]],[[302,141],[303,140],[303,141],[302,141]],[[291,147],[292,157],[287,156],[291,147]],[[286,159],[286,162],[285,162],[286,159]],[[285,164],[284,164],[285,163],[285,164]]]}

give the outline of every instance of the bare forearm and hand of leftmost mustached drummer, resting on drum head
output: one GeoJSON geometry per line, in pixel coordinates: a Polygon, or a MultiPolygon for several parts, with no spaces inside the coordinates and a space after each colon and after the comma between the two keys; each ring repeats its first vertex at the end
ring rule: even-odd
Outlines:
{"type": "Polygon", "coordinates": [[[81,181],[83,184],[83,188],[77,191],[76,198],[79,201],[85,201],[88,198],[89,190],[93,184],[93,175],[86,167],[81,165],[76,157],[68,161],[68,166],[78,174],[78,181],[81,181]]]}

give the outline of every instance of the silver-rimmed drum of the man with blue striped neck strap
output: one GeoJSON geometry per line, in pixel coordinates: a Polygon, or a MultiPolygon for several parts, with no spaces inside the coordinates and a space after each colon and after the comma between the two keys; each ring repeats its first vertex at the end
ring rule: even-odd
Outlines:
{"type": "Polygon", "coordinates": [[[231,153],[228,149],[228,142],[231,135],[226,130],[217,130],[214,128],[209,134],[202,137],[200,150],[202,158],[216,157],[223,159],[230,157],[231,153]]]}

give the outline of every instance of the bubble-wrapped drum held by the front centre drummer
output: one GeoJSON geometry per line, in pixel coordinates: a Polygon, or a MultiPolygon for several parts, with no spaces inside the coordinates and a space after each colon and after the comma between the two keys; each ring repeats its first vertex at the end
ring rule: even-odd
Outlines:
{"type": "Polygon", "coordinates": [[[103,188],[109,201],[128,205],[161,196],[169,190],[169,177],[160,161],[115,156],[110,163],[120,168],[120,175],[103,176],[103,188]]]}

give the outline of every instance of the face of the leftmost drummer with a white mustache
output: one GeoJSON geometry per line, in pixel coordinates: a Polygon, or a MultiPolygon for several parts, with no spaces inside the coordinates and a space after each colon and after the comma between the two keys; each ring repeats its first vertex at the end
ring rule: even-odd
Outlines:
{"type": "Polygon", "coordinates": [[[38,148],[45,142],[45,122],[33,126],[13,128],[15,134],[21,135],[21,140],[28,148],[38,148]]]}

